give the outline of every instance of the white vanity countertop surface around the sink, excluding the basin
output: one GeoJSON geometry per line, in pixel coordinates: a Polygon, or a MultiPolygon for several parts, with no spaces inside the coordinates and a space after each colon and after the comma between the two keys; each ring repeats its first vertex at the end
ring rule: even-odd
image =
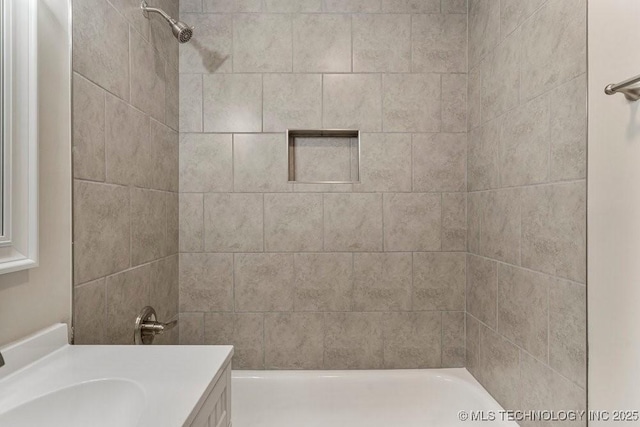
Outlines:
{"type": "MultiPolygon", "coordinates": [[[[30,350],[2,350],[7,365],[0,368],[0,419],[12,408],[65,387],[124,380],[135,383],[144,395],[140,418],[133,425],[190,425],[233,354],[231,346],[69,345],[66,325],[48,332],[57,334],[58,342],[64,337],[65,343],[47,353],[47,344],[40,337],[38,347],[36,336],[30,350]],[[38,349],[45,354],[25,365],[38,349]]],[[[109,393],[102,396],[111,398],[109,393]]]]}

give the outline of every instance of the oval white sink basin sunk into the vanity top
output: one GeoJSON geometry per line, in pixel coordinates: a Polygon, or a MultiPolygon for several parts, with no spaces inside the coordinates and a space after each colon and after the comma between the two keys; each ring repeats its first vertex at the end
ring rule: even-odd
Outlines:
{"type": "Polygon", "coordinates": [[[0,414],[0,425],[135,427],[144,405],[144,390],[133,381],[87,381],[52,391],[0,414]]]}

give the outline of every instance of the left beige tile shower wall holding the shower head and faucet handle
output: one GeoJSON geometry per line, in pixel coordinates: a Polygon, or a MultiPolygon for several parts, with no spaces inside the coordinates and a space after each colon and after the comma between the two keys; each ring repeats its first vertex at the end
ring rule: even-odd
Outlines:
{"type": "MultiPolygon", "coordinates": [[[[177,0],[158,6],[179,13],[177,0]]],[[[178,314],[178,61],[170,29],[138,0],[73,2],[78,344],[133,343],[146,305],[178,314]]],[[[177,343],[177,329],[156,342],[177,343]]]]}

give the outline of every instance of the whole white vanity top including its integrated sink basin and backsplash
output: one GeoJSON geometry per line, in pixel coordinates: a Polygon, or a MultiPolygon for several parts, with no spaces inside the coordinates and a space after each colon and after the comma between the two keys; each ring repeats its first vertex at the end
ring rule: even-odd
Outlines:
{"type": "Polygon", "coordinates": [[[0,352],[0,427],[187,427],[233,347],[69,345],[55,325],[0,352]]]}

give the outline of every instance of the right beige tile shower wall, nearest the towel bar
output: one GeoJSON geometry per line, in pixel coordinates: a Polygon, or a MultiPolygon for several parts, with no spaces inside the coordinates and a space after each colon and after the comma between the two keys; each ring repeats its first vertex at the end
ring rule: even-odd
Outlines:
{"type": "Polygon", "coordinates": [[[585,409],[586,1],[470,0],[469,41],[466,366],[585,409]]]}

